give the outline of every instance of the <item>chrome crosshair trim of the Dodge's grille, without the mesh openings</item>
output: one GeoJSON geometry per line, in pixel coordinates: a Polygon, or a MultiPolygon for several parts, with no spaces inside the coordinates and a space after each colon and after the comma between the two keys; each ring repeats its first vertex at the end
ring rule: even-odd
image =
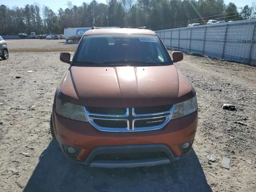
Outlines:
{"type": "Polygon", "coordinates": [[[106,132],[139,132],[139,131],[150,131],[150,130],[158,130],[163,128],[172,118],[172,113],[175,108],[175,104],[172,105],[169,111],[159,112],[159,113],[151,113],[151,114],[136,114],[134,112],[134,108],[126,108],[126,114],[124,115],[110,115],[110,114],[95,114],[90,113],[86,110],[84,106],[84,112],[89,123],[94,126],[96,129],[100,131],[106,132]],[[129,111],[131,113],[129,113],[129,111]],[[157,126],[145,126],[145,127],[135,127],[134,123],[136,120],[154,120],[159,118],[165,118],[162,124],[157,126]],[[126,128],[111,128],[111,127],[102,127],[98,126],[94,123],[94,119],[99,120],[113,120],[113,121],[126,121],[127,127],[126,128]]]}

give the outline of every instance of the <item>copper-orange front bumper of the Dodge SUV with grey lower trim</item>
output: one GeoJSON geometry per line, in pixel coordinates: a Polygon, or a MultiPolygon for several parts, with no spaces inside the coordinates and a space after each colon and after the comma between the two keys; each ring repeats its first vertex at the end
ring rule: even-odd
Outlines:
{"type": "MultiPolygon", "coordinates": [[[[171,120],[160,130],[144,132],[102,132],[86,122],[63,118],[53,112],[53,127],[60,146],[81,148],[73,161],[92,167],[137,167],[167,164],[184,157],[178,147],[194,140],[197,127],[197,111],[182,118],[171,120]],[[144,160],[94,160],[97,154],[161,151],[166,157],[144,160]]],[[[63,150],[63,148],[62,148],[63,150]]]]}

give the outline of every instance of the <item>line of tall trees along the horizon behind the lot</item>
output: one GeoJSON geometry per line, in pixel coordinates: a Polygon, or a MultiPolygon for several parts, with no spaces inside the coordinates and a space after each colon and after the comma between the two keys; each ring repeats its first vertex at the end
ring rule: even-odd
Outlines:
{"type": "Polygon", "coordinates": [[[134,28],[159,26],[174,28],[186,22],[207,22],[197,18],[221,15],[219,20],[248,19],[248,5],[238,12],[234,3],[224,0],[107,0],[106,4],[92,0],[81,6],[68,2],[68,8],[54,12],[48,6],[27,4],[24,8],[0,6],[0,34],[19,32],[63,34],[64,28],[90,26],[119,26],[134,28]]]}

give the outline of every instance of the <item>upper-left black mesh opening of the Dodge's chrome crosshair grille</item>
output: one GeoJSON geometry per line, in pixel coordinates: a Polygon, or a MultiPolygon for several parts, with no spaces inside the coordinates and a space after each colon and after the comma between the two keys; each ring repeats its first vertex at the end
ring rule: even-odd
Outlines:
{"type": "Polygon", "coordinates": [[[106,114],[106,115],[124,115],[124,114],[126,114],[126,108],[86,106],[86,110],[90,113],[95,113],[95,114],[106,114]]]}

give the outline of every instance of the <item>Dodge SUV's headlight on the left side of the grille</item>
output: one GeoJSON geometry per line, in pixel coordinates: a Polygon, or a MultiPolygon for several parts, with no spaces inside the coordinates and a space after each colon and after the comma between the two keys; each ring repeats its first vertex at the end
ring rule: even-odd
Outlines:
{"type": "Polygon", "coordinates": [[[56,97],[55,110],[56,113],[62,117],[88,122],[83,106],[64,102],[58,97],[56,97]]]}

